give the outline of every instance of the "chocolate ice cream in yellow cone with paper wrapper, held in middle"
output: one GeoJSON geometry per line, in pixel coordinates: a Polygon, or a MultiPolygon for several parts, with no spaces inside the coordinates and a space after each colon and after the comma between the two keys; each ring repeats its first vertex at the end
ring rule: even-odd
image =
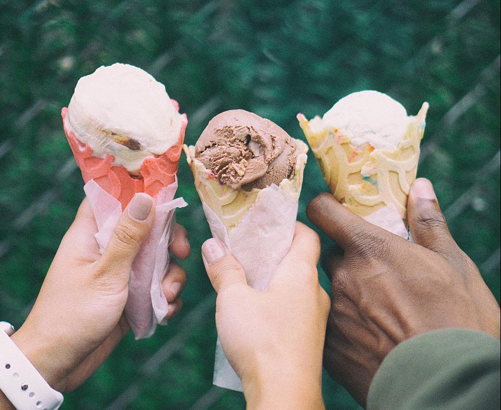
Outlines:
{"type": "MultiPolygon", "coordinates": [[[[247,284],[264,290],[292,244],[307,145],[268,119],[229,110],[183,149],[212,236],[238,260],[247,284]]],[[[219,343],[213,383],[242,391],[219,343]]]]}

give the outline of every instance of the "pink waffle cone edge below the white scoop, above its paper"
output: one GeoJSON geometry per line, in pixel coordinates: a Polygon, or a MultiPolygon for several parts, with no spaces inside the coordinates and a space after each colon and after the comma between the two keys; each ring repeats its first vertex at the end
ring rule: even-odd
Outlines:
{"type": "MultiPolygon", "coordinates": [[[[177,102],[171,101],[176,111],[179,112],[177,102]]],[[[132,177],[125,167],[113,166],[115,158],[112,155],[106,154],[104,158],[93,156],[92,148],[75,136],[71,124],[67,121],[67,110],[66,107],[61,110],[64,133],[82,172],[84,182],[95,180],[108,194],[120,201],[122,209],[125,209],[136,192],[146,192],[151,197],[156,197],[162,188],[175,181],[188,124],[186,114],[181,115],[181,128],[177,143],[160,156],[146,158],[141,165],[141,176],[132,177]]]]}

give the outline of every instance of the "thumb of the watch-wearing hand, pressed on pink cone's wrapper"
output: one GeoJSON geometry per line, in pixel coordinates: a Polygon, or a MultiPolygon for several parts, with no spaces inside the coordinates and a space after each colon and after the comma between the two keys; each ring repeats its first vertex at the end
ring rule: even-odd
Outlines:
{"type": "Polygon", "coordinates": [[[122,212],[99,260],[100,272],[128,278],[132,261],[148,236],[154,218],[153,199],[148,194],[135,194],[122,212]]]}

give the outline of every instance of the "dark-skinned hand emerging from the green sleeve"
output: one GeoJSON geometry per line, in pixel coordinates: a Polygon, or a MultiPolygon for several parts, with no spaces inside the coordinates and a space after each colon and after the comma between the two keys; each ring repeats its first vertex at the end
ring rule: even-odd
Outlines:
{"type": "Polygon", "coordinates": [[[384,357],[406,339],[451,327],[499,338],[499,306],[452,239],[428,180],[414,182],[407,211],[416,244],[362,220],[330,194],[306,211],[344,249],[323,263],[333,299],[324,366],[361,405],[384,357]]]}

